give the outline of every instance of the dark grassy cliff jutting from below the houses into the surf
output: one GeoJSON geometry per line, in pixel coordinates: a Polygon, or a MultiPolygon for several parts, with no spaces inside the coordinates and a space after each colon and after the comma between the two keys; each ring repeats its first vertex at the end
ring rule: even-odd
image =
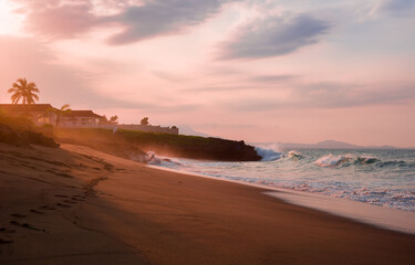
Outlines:
{"type": "Polygon", "coordinates": [[[95,149],[103,148],[105,149],[103,151],[114,155],[123,151],[141,156],[143,152],[154,151],[159,156],[218,161],[258,161],[261,159],[253,147],[243,141],[219,138],[137,130],[117,130],[113,135],[112,130],[96,128],[55,129],[55,131],[59,141],[85,145],[95,149]],[[108,147],[113,148],[110,150],[108,147]]]}

